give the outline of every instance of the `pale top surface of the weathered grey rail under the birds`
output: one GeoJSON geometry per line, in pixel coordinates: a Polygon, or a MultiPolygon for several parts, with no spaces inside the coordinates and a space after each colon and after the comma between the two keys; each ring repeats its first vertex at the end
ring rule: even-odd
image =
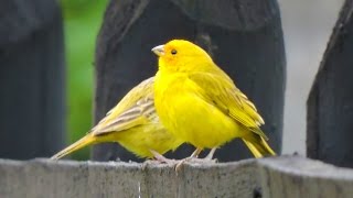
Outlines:
{"type": "MultiPolygon", "coordinates": [[[[94,161],[51,161],[47,158],[34,158],[29,161],[13,161],[0,158],[0,166],[25,166],[28,164],[46,164],[54,166],[66,166],[66,167],[104,167],[109,168],[128,168],[128,169],[173,169],[172,165],[168,164],[154,164],[154,163],[135,163],[135,162],[94,162],[94,161]]],[[[197,164],[197,163],[185,163],[188,168],[201,168],[207,169],[211,167],[227,168],[227,167],[238,167],[255,164],[258,167],[266,167],[269,169],[275,169],[284,174],[293,176],[308,176],[318,178],[329,178],[329,179],[347,179],[353,182],[353,169],[338,167],[331,164],[325,164],[321,161],[310,160],[302,156],[288,156],[284,155],[280,157],[268,157],[260,160],[243,160],[239,162],[228,162],[228,163],[216,163],[216,164],[197,164]]]]}

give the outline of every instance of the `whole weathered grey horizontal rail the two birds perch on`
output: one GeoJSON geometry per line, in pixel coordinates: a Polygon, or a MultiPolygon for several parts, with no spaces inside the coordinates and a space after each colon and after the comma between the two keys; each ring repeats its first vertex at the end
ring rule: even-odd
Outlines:
{"type": "Polygon", "coordinates": [[[0,197],[351,197],[353,170],[298,156],[168,165],[0,160],[0,197]]]}

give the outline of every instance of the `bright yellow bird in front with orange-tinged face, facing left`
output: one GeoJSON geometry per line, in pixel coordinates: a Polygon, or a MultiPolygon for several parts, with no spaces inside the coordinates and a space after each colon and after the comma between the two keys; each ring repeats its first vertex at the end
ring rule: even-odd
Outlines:
{"type": "Polygon", "coordinates": [[[170,133],[196,147],[216,148],[240,138],[255,157],[276,155],[260,130],[263,118],[233,80],[197,45],[173,40],[159,56],[154,106],[170,133]]]}

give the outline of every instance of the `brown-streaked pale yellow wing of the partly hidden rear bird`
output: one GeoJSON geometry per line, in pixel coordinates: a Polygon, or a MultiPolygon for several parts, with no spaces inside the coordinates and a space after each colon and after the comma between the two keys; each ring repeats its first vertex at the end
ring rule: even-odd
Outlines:
{"type": "Polygon", "coordinates": [[[150,122],[154,117],[153,78],[149,78],[131,89],[90,132],[95,135],[119,132],[150,122]]]}

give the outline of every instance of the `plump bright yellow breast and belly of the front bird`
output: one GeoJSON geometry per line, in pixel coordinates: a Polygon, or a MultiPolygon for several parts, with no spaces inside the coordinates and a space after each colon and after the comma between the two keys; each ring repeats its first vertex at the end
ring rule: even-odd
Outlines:
{"type": "Polygon", "coordinates": [[[194,89],[186,75],[157,75],[156,109],[169,132],[194,146],[207,148],[240,136],[242,127],[194,89]]]}

